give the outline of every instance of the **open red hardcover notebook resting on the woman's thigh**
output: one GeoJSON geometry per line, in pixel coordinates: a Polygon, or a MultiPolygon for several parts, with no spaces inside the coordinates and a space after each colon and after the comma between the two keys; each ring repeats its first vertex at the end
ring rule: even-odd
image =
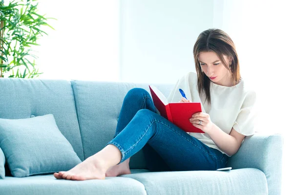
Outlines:
{"type": "MultiPolygon", "coordinates": [[[[168,103],[167,98],[155,86],[148,85],[155,107],[162,117],[181,128],[185,132],[205,133],[194,127],[189,118],[194,113],[202,112],[200,102],[168,103]]],[[[178,93],[180,93],[178,91],[178,93]]]]}

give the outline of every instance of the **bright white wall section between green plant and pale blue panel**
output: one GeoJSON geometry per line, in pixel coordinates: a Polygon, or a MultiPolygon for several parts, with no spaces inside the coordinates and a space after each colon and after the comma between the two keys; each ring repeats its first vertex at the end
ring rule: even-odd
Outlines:
{"type": "Polygon", "coordinates": [[[42,0],[56,30],[40,40],[40,78],[119,80],[119,0],[42,0]]]}

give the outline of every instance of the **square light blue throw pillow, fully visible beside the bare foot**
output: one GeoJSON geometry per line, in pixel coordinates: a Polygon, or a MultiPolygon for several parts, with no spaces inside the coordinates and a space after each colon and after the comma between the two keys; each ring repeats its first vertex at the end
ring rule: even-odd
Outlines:
{"type": "Polygon", "coordinates": [[[15,177],[68,171],[81,163],[52,114],[0,118],[0,148],[15,177]]]}

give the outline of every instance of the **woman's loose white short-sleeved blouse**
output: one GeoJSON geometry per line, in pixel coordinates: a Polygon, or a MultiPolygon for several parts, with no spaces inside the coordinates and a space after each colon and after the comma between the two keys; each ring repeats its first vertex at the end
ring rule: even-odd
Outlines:
{"type": "MultiPolygon", "coordinates": [[[[205,96],[200,96],[198,93],[197,74],[195,72],[189,72],[177,81],[167,98],[169,103],[181,100],[182,95],[179,88],[185,92],[189,100],[200,102],[202,112],[208,113],[210,120],[225,133],[230,134],[233,127],[235,131],[244,136],[254,134],[256,94],[245,85],[243,79],[232,87],[210,82],[210,105],[208,101],[205,102],[205,96]]],[[[207,146],[221,151],[208,134],[192,132],[188,134],[207,146]]],[[[226,154],[223,151],[221,152],[226,154]]]]}

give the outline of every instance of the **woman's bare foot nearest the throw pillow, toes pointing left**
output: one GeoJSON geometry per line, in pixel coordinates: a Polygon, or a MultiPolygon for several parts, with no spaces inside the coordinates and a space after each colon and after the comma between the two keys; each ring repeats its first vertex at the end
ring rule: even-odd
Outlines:
{"type": "Polygon", "coordinates": [[[90,156],[69,171],[54,173],[54,176],[57,179],[70,180],[105,179],[106,171],[107,167],[102,160],[90,156]]]}

